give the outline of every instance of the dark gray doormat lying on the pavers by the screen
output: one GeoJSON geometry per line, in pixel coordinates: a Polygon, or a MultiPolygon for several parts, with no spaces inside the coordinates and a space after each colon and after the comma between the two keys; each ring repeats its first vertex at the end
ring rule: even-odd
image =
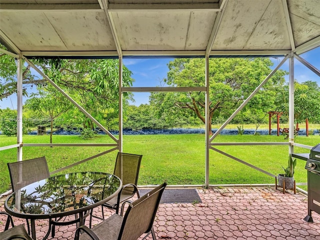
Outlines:
{"type": "MultiPolygon", "coordinates": [[[[151,189],[140,189],[140,195],[144,195],[151,189]]],[[[196,189],[183,188],[183,189],[164,189],[161,199],[161,203],[175,203],[175,202],[202,202],[196,189]]]]}

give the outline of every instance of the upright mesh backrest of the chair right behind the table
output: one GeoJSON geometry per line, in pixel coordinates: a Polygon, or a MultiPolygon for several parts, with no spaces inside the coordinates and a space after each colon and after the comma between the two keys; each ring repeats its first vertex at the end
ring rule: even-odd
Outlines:
{"type": "Polygon", "coordinates": [[[113,174],[121,179],[123,185],[128,183],[136,185],[141,158],[142,155],[118,152],[113,174]]]}

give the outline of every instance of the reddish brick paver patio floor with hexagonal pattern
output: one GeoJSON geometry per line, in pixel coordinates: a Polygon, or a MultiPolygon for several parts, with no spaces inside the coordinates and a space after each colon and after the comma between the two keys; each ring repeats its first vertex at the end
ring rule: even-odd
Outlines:
{"type": "MultiPolygon", "coordinates": [[[[320,215],[312,212],[313,223],[303,220],[307,214],[304,194],[283,194],[273,188],[197,190],[201,203],[160,203],[154,222],[158,239],[320,240],[320,215]]],[[[3,199],[0,210],[3,210],[3,199]]],[[[96,214],[99,214],[99,208],[96,214]]],[[[110,214],[113,211],[107,212],[110,214]]],[[[15,224],[25,222],[13,218],[15,224]]],[[[98,221],[94,220],[93,224],[98,221]]],[[[3,228],[0,225],[0,231],[3,228]]],[[[36,221],[36,229],[37,238],[42,239],[47,220],[36,221]]],[[[74,224],[57,226],[55,237],[48,239],[73,239],[74,230],[74,224]]]]}

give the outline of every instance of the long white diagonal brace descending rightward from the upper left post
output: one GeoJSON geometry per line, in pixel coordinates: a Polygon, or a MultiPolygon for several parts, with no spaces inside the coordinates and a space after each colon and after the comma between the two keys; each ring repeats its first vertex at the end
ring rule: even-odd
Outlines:
{"type": "Polygon", "coordinates": [[[84,113],[88,118],[90,118],[102,131],[109,135],[115,142],[118,140],[113,136],[104,126],[101,125],[93,116],[90,115],[82,106],[80,106],[76,101],[74,101],[68,94],[66,94],[54,81],[52,81],[47,75],[45,75],[39,68],[37,68],[32,62],[30,62],[26,57],[23,57],[24,60],[34,68],[44,79],[46,79],[52,86],[54,86],[62,95],[64,95],[70,102],[73,103],[81,112],[84,113]]]}

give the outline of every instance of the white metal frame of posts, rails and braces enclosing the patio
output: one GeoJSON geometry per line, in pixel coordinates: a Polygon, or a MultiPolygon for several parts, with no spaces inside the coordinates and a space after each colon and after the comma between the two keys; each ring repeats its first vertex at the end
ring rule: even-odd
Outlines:
{"type": "MultiPolygon", "coordinates": [[[[12,54],[10,54],[12,55],[12,54]]],[[[243,103],[233,112],[233,114],[220,126],[220,128],[211,136],[209,137],[208,134],[208,121],[206,121],[205,124],[205,183],[204,185],[211,186],[209,184],[209,149],[212,149],[216,152],[219,152],[225,156],[230,157],[231,159],[234,159],[238,162],[241,162],[247,166],[250,166],[256,170],[259,170],[269,176],[274,175],[272,173],[266,172],[263,169],[260,169],[250,163],[247,163],[235,156],[229,155],[226,152],[223,152],[221,150],[218,150],[215,148],[215,146],[219,145],[288,145],[289,146],[289,152],[293,153],[293,146],[303,147],[306,149],[311,149],[312,146],[307,146],[303,144],[294,143],[294,137],[293,137],[293,94],[294,94],[294,75],[293,75],[293,58],[298,59],[300,62],[302,62],[304,65],[306,65],[310,70],[315,72],[318,76],[320,76],[320,71],[308,63],[306,60],[304,60],[302,57],[300,57],[298,54],[291,52],[290,54],[287,54],[283,60],[271,71],[271,73],[259,84],[259,86],[243,101],[243,103]],[[244,107],[244,105],[254,96],[254,94],[263,86],[263,84],[266,83],[266,81],[274,74],[274,72],[287,60],[289,59],[289,142],[212,142],[213,139],[221,132],[221,130],[232,120],[232,118],[244,107]]],[[[78,105],[70,96],[68,96],[60,87],[58,87],[51,79],[49,79],[45,74],[41,72],[40,69],[38,69],[33,63],[31,63],[25,56],[21,56],[17,60],[18,68],[17,68],[17,144],[9,145],[9,146],[3,146],[0,147],[0,150],[5,150],[9,148],[17,148],[17,160],[22,160],[22,147],[23,146],[112,146],[113,148],[106,150],[104,152],[101,152],[99,154],[93,155],[91,157],[85,158],[83,160],[80,160],[79,162],[73,163],[71,165],[62,167],[60,169],[57,169],[51,173],[56,173],[61,170],[65,170],[71,166],[77,165],[79,163],[85,162],[87,160],[93,159],[95,157],[101,156],[103,154],[106,154],[108,152],[114,151],[114,150],[122,150],[122,95],[123,92],[150,92],[150,91],[157,91],[157,92],[181,92],[181,91],[203,91],[205,92],[205,118],[208,119],[208,103],[209,103],[209,80],[208,80],[208,71],[209,71],[209,58],[205,57],[205,86],[203,87],[122,87],[122,57],[119,56],[119,139],[116,139],[107,129],[105,129],[97,120],[94,119],[88,112],[85,111],[80,105],[78,105]],[[46,80],[48,80],[57,90],[59,90],[68,100],[70,100],[80,111],[82,111],[87,117],[89,117],[94,123],[96,123],[103,131],[105,131],[114,141],[115,143],[22,143],[22,59],[27,61],[28,64],[30,64],[39,74],[42,75],[46,80]]],[[[267,184],[269,185],[269,184],[267,184]]],[[[182,186],[182,185],[175,185],[175,186],[182,186]]],[[[197,185],[183,185],[183,186],[197,186],[197,185]]]]}

